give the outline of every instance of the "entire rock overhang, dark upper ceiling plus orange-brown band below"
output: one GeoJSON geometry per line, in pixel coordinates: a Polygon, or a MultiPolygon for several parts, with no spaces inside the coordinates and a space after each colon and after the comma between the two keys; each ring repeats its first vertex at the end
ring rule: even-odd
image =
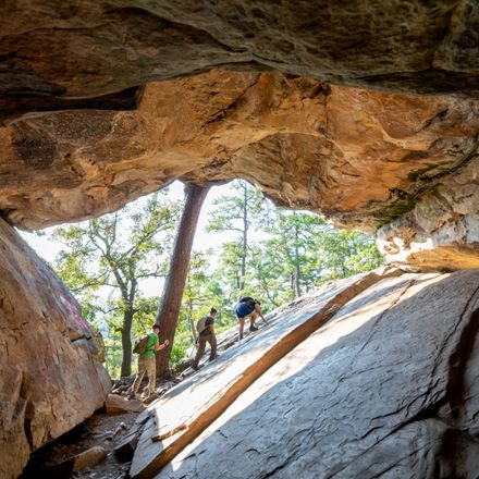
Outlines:
{"type": "Polygon", "coordinates": [[[2,17],[11,223],[91,218],[174,179],[244,177],[277,204],[381,228],[392,261],[428,268],[413,243],[477,260],[475,2],[29,0],[2,17]]]}

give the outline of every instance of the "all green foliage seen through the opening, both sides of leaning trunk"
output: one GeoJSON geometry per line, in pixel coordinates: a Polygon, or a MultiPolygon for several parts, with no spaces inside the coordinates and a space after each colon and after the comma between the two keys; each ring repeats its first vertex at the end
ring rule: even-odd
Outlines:
{"type": "MultiPolygon", "coordinates": [[[[177,202],[157,194],[121,212],[56,230],[65,245],[56,269],[78,296],[86,319],[108,332],[112,377],[125,371],[122,334],[137,337],[151,327],[159,297],[145,297],[142,282],[165,275],[179,211],[177,202]]],[[[208,231],[230,232],[230,238],[220,251],[192,254],[172,369],[192,354],[196,321],[211,307],[219,310],[220,333],[236,324],[240,296],[261,299],[268,312],[317,285],[382,265],[366,234],[336,230],[310,212],[275,208],[243,181],[214,201],[209,218],[208,231]]]]}

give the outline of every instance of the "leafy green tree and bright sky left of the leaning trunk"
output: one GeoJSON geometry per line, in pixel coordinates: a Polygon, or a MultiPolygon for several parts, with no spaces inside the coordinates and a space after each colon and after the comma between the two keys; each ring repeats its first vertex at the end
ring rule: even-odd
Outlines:
{"type": "MultiPolygon", "coordinates": [[[[64,245],[54,261],[57,273],[76,294],[85,317],[106,322],[112,340],[122,335],[122,376],[131,372],[131,336],[149,330],[158,299],[145,298],[138,284],[165,274],[168,253],[180,205],[165,193],[128,205],[121,212],[57,228],[64,245]]],[[[109,366],[116,372],[118,345],[109,366]]]]}

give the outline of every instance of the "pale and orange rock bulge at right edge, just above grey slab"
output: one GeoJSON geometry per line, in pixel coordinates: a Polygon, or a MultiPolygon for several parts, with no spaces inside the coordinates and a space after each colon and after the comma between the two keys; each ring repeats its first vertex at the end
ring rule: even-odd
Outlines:
{"type": "Polygon", "coordinates": [[[419,270],[479,268],[479,161],[442,179],[377,232],[386,261],[419,270]]]}

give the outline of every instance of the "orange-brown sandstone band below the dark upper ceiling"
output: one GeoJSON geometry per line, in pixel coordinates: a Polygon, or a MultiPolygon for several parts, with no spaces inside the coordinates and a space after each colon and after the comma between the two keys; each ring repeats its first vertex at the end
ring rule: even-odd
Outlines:
{"type": "Polygon", "coordinates": [[[216,70],[148,85],[136,112],[61,112],[0,128],[0,210],[36,229],[111,211],[174,179],[244,177],[277,204],[346,228],[373,232],[401,217],[381,233],[392,260],[410,256],[408,230],[430,237],[442,217],[452,234],[435,232],[434,248],[456,244],[469,259],[429,266],[470,267],[478,134],[478,100],[216,70]]]}

